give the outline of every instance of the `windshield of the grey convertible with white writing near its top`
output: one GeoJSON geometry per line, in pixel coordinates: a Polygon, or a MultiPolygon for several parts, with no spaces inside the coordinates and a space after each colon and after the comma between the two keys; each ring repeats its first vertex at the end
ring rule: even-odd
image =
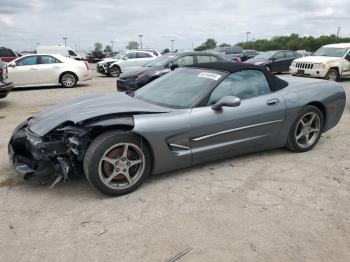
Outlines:
{"type": "Polygon", "coordinates": [[[190,108],[225,73],[194,68],[178,68],[135,92],[134,97],[170,108],[190,108]]]}

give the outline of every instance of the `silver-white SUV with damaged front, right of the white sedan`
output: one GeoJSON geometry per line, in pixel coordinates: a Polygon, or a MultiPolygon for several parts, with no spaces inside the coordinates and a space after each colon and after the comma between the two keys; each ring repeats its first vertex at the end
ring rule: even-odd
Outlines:
{"type": "Polygon", "coordinates": [[[139,67],[156,59],[158,56],[151,51],[127,50],[118,53],[113,58],[105,58],[97,63],[97,71],[108,76],[119,76],[129,67],[139,67]]]}

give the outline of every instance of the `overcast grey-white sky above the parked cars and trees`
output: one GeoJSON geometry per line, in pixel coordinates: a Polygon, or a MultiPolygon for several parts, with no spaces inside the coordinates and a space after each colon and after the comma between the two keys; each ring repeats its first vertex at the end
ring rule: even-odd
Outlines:
{"type": "Polygon", "coordinates": [[[275,35],[328,35],[341,26],[350,36],[349,0],[0,0],[0,46],[19,51],[36,43],[54,45],[68,37],[73,49],[90,50],[97,41],[129,40],[143,46],[190,49],[208,37],[235,44],[275,35]]]}

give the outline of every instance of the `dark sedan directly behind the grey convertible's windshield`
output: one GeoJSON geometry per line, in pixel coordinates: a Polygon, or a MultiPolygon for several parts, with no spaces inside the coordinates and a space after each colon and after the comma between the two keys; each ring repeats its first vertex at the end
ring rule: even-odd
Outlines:
{"type": "Polygon", "coordinates": [[[210,52],[167,53],[142,67],[121,74],[117,80],[117,89],[135,91],[177,67],[224,60],[220,54],[210,52]]]}

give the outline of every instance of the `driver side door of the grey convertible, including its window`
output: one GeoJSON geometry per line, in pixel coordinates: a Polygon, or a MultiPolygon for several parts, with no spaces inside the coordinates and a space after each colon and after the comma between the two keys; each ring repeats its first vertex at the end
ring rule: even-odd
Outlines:
{"type": "Polygon", "coordinates": [[[262,71],[229,75],[209,95],[206,106],[191,112],[193,164],[275,147],[285,111],[283,97],[270,91],[262,71]],[[213,110],[211,105],[225,96],[239,97],[241,104],[213,110]]]}

